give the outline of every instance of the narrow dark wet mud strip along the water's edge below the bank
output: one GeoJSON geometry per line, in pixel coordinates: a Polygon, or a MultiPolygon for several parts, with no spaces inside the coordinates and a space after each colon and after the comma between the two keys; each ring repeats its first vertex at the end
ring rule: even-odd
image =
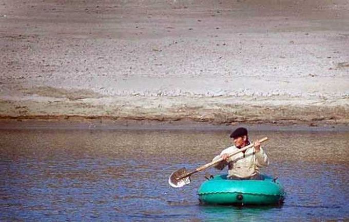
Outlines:
{"type": "Polygon", "coordinates": [[[51,119],[0,119],[0,130],[174,130],[174,131],[231,131],[235,127],[247,127],[251,131],[311,131],[348,132],[347,125],[309,126],[305,124],[236,123],[230,125],[180,121],[112,120],[110,118],[51,118],[51,119]]]}

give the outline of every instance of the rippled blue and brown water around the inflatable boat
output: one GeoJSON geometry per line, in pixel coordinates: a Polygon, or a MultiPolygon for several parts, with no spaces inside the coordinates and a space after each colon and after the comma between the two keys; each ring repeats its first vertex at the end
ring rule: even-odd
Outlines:
{"type": "Polygon", "coordinates": [[[182,188],[168,176],[230,145],[228,131],[1,129],[0,220],[347,220],[348,131],[251,131],[287,192],[281,206],[199,205],[208,169],[182,188]]]}

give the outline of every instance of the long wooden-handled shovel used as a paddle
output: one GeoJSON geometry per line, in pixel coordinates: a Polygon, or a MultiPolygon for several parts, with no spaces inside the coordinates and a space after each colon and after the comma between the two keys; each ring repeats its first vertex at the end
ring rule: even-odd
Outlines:
{"type": "MultiPolygon", "coordinates": [[[[264,141],[267,141],[268,138],[264,137],[263,139],[259,140],[260,143],[263,143],[264,141]]],[[[251,143],[248,146],[245,146],[235,152],[229,153],[228,158],[230,158],[231,156],[234,156],[235,154],[245,151],[248,148],[251,148],[255,145],[255,143],[251,143]]],[[[210,163],[207,163],[199,168],[196,168],[195,170],[188,172],[187,169],[185,167],[171,173],[170,177],[168,178],[168,183],[171,187],[174,188],[180,188],[183,187],[187,184],[190,184],[190,176],[194,173],[200,172],[204,169],[207,169],[208,167],[214,166],[217,163],[221,162],[223,160],[223,158],[219,158],[218,160],[212,161],[210,163]]]]}

